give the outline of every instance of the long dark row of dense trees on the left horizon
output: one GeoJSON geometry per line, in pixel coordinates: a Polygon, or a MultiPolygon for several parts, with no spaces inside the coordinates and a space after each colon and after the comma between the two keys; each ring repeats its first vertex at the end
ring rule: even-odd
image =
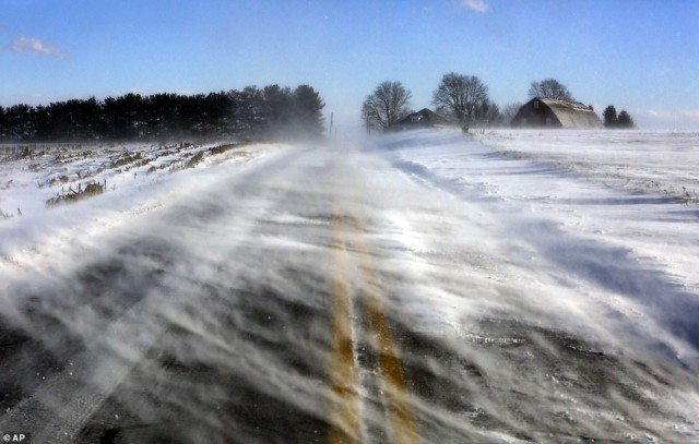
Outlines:
{"type": "Polygon", "coordinates": [[[317,139],[320,94],[309,85],[181,95],[129,93],[98,100],[0,107],[0,141],[139,141],[220,136],[317,139]]]}

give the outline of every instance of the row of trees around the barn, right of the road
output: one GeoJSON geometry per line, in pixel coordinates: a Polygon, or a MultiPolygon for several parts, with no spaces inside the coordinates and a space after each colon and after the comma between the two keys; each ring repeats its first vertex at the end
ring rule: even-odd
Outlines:
{"type": "MultiPolygon", "coordinates": [[[[553,98],[574,101],[568,87],[556,79],[545,79],[532,82],[528,91],[530,98],[553,98]]],[[[386,81],[380,83],[369,94],[362,105],[362,119],[367,130],[388,130],[395,122],[412,112],[410,100],[412,93],[401,82],[386,81]]],[[[511,122],[522,104],[509,104],[502,110],[488,96],[488,87],[475,75],[463,75],[455,72],[442,76],[439,85],[433,92],[431,104],[436,111],[450,117],[462,128],[471,125],[497,127],[511,122]]],[[[614,107],[612,107],[614,108],[614,107]]],[[[592,108],[591,108],[592,109],[592,108]]],[[[608,109],[608,108],[607,108],[608,109]]],[[[618,118],[614,110],[614,119],[607,124],[605,110],[605,125],[615,128],[632,128],[633,120],[628,112],[623,111],[618,118]]]]}

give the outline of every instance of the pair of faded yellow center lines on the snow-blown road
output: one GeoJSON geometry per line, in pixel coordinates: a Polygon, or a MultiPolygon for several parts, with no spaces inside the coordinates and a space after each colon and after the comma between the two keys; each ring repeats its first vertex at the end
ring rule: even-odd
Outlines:
{"type": "MultiPolygon", "coordinates": [[[[368,328],[376,340],[375,352],[380,368],[383,393],[386,394],[384,401],[392,436],[391,441],[416,444],[419,442],[419,435],[410,394],[401,369],[398,347],[389,328],[389,322],[383,315],[381,290],[371,265],[364,231],[359,219],[355,216],[348,216],[347,219],[350,219],[350,225],[353,229],[353,244],[356,249],[359,271],[363,277],[359,283],[362,308],[367,315],[368,328]]],[[[328,442],[330,444],[358,443],[362,441],[359,416],[357,413],[358,399],[355,388],[356,359],[352,343],[351,299],[345,279],[347,264],[344,220],[345,217],[340,216],[337,212],[334,213],[330,384],[335,397],[331,400],[329,415],[328,442]]]]}

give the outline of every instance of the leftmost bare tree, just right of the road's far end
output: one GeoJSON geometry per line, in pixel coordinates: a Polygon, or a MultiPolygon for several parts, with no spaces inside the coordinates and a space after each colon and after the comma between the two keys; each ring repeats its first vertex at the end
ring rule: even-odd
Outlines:
{"type": "Polygon", "coordinates": [[[381,82],[362,105],[362,119],[369,125],[389,129],[405,117],[412,94],[401,82],[381,82]]]}

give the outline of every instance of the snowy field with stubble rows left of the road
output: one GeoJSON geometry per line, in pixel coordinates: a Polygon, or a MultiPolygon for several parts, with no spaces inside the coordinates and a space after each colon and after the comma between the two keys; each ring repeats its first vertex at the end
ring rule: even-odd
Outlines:
{"type": "MultiPolygon", "coordinates": [[[[173,190],[198,187],[190,181],[192,175],[182,172],[245,159],[251,155],[246,145],[0,145],[0,255],[11,260],[13,252],[51,238],[59,228],[88,231],[162,205],[173,190]],[[25,149],[31,154],[25,155],[25,149]],[[47,201],[75,194],[91,183],[103,187],[99,199],[93,195],[79,204],[47,207],[47,201]]],[[[273,145],[261,146],[256,149],[273,145]]]]}

